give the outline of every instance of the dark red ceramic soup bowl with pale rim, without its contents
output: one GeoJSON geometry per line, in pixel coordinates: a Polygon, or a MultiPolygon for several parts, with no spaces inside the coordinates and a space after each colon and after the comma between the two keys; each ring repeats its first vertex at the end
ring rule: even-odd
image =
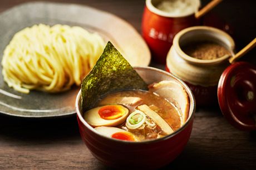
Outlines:
{"type": "Polygon", "coordinates": [[[81,90],[76,98],[77,121],[82,140],[99,161],[117,168],[159,168],[173,161],[183,151],[193,126],[195,100],[183,81],[166,71],[136,67],[135,70],[147,84],[162,80],[175,80],[184,87],[190,100],[188,120],[174,133],[157,140],[128,142],[108,138],[97,133],[83,119],[80,111],[81,90]]]}

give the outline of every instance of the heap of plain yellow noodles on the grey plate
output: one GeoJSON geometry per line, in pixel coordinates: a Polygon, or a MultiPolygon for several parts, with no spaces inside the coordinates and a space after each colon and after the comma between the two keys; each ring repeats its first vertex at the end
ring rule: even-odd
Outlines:
{"type": "Polygon", "coordinates": [[[100,35],[81,27],[33,25],[17,32],[4,49],[3,78],[19,92],[64,91],[81,84],[104,47],[100,35]]]}

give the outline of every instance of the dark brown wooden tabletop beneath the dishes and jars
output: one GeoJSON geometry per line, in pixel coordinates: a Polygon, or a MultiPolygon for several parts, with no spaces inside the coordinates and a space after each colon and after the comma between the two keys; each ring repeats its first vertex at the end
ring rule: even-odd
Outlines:
{"type": "MultiPolygon", "coordinates": [[[[26,0],[0,1],[0,12],[26,0]]],[[[71,2],[71,1],[58,1],[71,2]]],[[[205,4],[208,1],[203,1],[205,4]]],[[[145,1],[75,0],[116,14],[140,32],[145,1]]],[[[234,27],[237,49],[255,37],[255,1],[223,1],[213,12],[234,27]]],[[[1,29],[1,25],[0,25],[1,29]]],[[[255,50],[243,60],[255,63],[255,50]]],[[[0,169],[108,169],[80,138],[76,115],[58,119],[21,119],[0,115],[0,169]]],[[[166,169],[256,169],[256,132],[229,125],[218,106],[198,108],[185,150],[166,169]]]]}

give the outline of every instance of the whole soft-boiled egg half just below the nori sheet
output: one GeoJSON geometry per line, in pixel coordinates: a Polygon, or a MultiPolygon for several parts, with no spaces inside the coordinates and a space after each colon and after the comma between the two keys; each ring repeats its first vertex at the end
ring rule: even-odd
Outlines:
{"type": "Polygon", "coordinates": [[[124,122],[129,110],[122,105],[95,107],[85,112],[85,121],[93,127],[116,126],[124,122]]]}

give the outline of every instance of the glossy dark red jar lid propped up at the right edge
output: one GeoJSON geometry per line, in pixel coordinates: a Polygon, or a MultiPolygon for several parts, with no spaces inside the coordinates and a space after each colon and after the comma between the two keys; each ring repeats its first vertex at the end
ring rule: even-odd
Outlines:
{"type": "Polygon", "coordinates": [[[256,130],[256,67],[237,62],[224,70],[218,85],[220,109],[242,130],[256,130]]]}

